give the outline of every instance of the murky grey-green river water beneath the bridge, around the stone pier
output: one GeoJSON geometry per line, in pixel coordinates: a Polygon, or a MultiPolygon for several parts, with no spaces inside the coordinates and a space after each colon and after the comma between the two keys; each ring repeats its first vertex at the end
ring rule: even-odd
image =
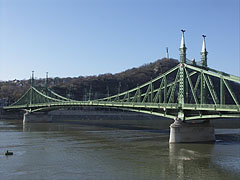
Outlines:
{"type": "Polygon", "coordinates": [[[240,179],[240,130],[216,133],[215,144],[169,144],[168,129],[0,120],[0,179],[240,179]]]}

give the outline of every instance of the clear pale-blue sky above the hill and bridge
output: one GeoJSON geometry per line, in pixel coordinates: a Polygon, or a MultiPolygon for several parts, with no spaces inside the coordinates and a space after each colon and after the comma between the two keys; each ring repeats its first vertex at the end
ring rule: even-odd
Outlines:
{"type": "Polygon", "coordinates": [[[0,80],[121,72],[165,56],[240,76],[239,0],[0,0],[0,80]]]}

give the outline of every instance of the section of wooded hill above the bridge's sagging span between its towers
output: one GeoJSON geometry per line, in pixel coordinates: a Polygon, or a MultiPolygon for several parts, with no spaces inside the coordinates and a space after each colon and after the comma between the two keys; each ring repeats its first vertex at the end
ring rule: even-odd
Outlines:
{"type": "Polygon", "coordinates": [[[178,61],[175,59],[163,58],[116,74],[62,78],[59,82],[52,83],[50,87],[56,93],[72,99],[97,99],[135,88],[165,73],[177,64],[178,61]]]}

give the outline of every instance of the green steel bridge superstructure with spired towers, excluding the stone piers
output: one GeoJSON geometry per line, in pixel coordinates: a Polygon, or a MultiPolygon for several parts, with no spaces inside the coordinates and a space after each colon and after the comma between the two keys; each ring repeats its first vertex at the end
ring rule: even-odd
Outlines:
{"type": "Polygon", "coordinates": [[[45,87],[34,87],[32,76],[32,85],[27,92],[4,109],[38,112],[75,106],[100,106],[182,121],[240,119],[240,77],[207,66],[208,52],[204,35],[201,61],[188,60],[184,32],[182,30],[179,64],[134,89],[102,99],[77,101],[50,90],[47,78],[45,87]]]}

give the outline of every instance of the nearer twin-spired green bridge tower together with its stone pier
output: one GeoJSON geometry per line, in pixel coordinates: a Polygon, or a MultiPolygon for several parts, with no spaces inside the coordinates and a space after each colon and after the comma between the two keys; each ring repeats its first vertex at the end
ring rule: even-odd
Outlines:
{"type": "MultiPolygon", "coordinates": [[[[178,115],[173,124],[170,125],[169,143],[186,143],[186,142],[214,142],[215,133],[214,128],[209,121],[204,123],[186,123],[184,103],[187,98],[187,79],[185,74],[186,64],[186,46],[184,39],[184,32],[182,31],[182,40],[180,45],[180,64],[179,64],[179,91],[178,91],[178,115]]],[[[205,35],[203,35],[203,45],[201,51],[201,64],[203,69],[207,69],[207,50],[205,35]]],[[[206,103],[206,82],[201,74],[201,104],[206,103]]]]}

